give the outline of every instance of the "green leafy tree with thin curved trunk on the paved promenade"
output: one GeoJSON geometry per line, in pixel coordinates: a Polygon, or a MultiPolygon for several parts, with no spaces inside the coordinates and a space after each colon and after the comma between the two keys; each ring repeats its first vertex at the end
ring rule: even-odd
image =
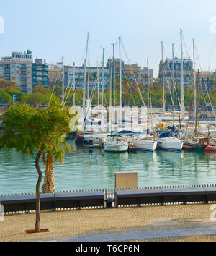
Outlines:
{"type": "MultiPolygon", "coordinates": [[[[74,114],[75,115],[75,114],[74,114]]],[[[69,145],[63,137],[70,132],[69,121],[73,115],[68,108],[53,103],[49,108],[32,108],[27,105],[13,106],[6,111],[3,123],[4,133],[0,137],[0,149],[15,148],[24,155],[33,155],[38,173],[36,184],[36,221],[35,232],[40,232],[40,183],[42,172],[39,161],[40,156],[51,156],[54,161],[63,161],[65,149],[70,152],[69,145]]],[[[21,170],[22,171],[22,170],[21,170]]]]}

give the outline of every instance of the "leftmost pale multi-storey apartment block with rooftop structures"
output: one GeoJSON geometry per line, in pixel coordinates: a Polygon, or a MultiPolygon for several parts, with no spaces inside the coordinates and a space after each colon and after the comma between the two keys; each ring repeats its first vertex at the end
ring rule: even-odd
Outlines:
{"type": "Polygon", "coordinates": [[[0,61],[0,79],[16,82],[19,91],[32,93],[32,52],[12,52],[0,61]]]}

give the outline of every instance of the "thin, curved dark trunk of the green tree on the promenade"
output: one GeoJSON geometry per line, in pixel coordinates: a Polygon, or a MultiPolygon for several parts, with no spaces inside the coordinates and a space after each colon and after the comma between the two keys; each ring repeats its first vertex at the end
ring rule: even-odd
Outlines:
{"type": "Polygon", "coordinates": [[[35,233],[40,231],[40,183],[42,180],[42,172],[39,166],[40,155],[42,154],[42,150],[39,150],[35,160],[35,167],[38,173],[38,180],[36,184],[36,223],[35,223],[35,233]]]}

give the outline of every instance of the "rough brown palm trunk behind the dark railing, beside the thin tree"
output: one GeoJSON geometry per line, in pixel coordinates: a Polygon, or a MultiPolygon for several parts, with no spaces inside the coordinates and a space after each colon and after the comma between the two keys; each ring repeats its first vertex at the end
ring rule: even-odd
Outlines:
{"type": "Polygon", "coordinates": [[[48,155],[46,161],[45,178],[42,184],[42,193],[55,193],[54,184],[54,159],[52,156],[48,155]]]}

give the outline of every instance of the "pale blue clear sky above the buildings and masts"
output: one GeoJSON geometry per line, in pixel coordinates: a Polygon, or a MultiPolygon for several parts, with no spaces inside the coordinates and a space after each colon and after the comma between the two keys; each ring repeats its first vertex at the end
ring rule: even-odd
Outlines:
{"type": "Polygon", "coordinates": [[[87,64],[100,66],[103,48],[105,61],[112,56],[112,43],[118,58],[121,37],[125,64],[146,67],[149,58],[157,77],[161,41],[164,58],[171,57],[172,43],[180,58],[180,28],[184,57],[193,59],[194,39],[197,69],[215,70],[215,0],[1,0],[0,58],[30,49],[33,58],[48,64],[56,64],[64,56],[66,65],[75,62],[79,66],[84,64],[89,31],[87,64]]]}

